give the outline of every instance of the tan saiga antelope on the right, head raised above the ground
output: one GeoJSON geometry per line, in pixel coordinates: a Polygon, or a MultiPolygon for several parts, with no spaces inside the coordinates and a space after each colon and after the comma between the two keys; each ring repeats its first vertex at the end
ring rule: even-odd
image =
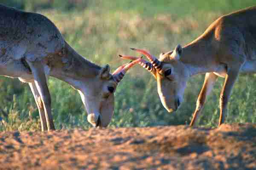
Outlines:
{"type": "Polygon", "coordinates": [[[142,60],[140,65],[157,79],[157,92],[169,112],[179,108],[189,77],[206,73],[190,126],[195,124],[217,77],[224,77],[219,99],[220,126],[224,123],[227,102],[239,73],[256,71],[256,7],[219,17],[196,40],[161,53],[159,59],[148,51],[132,49],[149,59],[149,62],[142,60]]]}

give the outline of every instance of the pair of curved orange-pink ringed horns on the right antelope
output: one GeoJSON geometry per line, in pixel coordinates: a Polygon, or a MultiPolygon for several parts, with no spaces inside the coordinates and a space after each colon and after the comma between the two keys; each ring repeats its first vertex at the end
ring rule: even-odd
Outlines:
{"type": "MultiPolygon", "coordinates": [[[[138,62],[146,70],[151,72],[151,71],[153,71],[154,68],[158,71],[160,71],[162,69],[162,63],[156,57],[151,55],[148,51],[142,50],[142,49],[137,49],[137,48],[131,48],[131,50],[137,51],[140,54],[143,54],[148,58],[149,62],[145,61],[144,59],[140,59],[140,61],[138,62]]],[[[133,57],[133,56],[119,55],[119,57],[122,57],[124,59],[131,59],[134,61],[136,59],[138,59],[138,57],[133,57]]]]}

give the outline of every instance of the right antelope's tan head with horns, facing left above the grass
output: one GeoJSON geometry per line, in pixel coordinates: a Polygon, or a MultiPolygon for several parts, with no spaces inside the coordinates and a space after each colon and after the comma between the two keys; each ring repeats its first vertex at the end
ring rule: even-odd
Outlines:
{"type": "MultiPolygon", "coordinates": [[[[148,70],[157,80],[157,92],[160,100],[168,112],[176,111],[183,101],[183,94],[189,72],[185,65],[180,61],[182,47],[177,45],[174,51],[161,53],[157,59],[148,51],[131,48],[140,54],[145,55],[148,61],[141,59],[138,63],[148,70]]],[[[136,60],[137,57],[122,56],[124,59],[136,60]]]]}

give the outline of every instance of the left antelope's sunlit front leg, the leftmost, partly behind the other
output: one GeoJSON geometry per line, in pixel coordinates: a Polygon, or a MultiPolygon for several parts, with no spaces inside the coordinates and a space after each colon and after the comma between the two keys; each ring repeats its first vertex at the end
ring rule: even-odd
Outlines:
{"type": "Polygon", "coordinates": [[[29,87],[32,91],[32,94],[35,98],[35,103],[38,107],[38,111],[39,111],[39,116],[40,116],[40,120],[41,120],[41,129],[42,131],[47,130],[47,122],[45,119],[45,113],[44,113],[44,105],[43,102],[41,100],[41,96],[35,86],[35,82],[30,82],[29,83],[29,87]]]}

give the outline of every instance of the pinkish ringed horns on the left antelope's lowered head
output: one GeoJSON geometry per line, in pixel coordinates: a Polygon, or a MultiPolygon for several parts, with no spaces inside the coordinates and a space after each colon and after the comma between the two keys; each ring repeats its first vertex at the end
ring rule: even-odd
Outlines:
{"type": "Polygon", "coordinates": [[[122,78],[125,76],[125,73],[133,67],[135,64],[141,62],[141,58],[137,58],[134,61],[131,61],[127,64],[121,65],[119,68],[116,69],[116,71],[113,72],[113,79],[116,83],[119,83],[122,78]]]}

